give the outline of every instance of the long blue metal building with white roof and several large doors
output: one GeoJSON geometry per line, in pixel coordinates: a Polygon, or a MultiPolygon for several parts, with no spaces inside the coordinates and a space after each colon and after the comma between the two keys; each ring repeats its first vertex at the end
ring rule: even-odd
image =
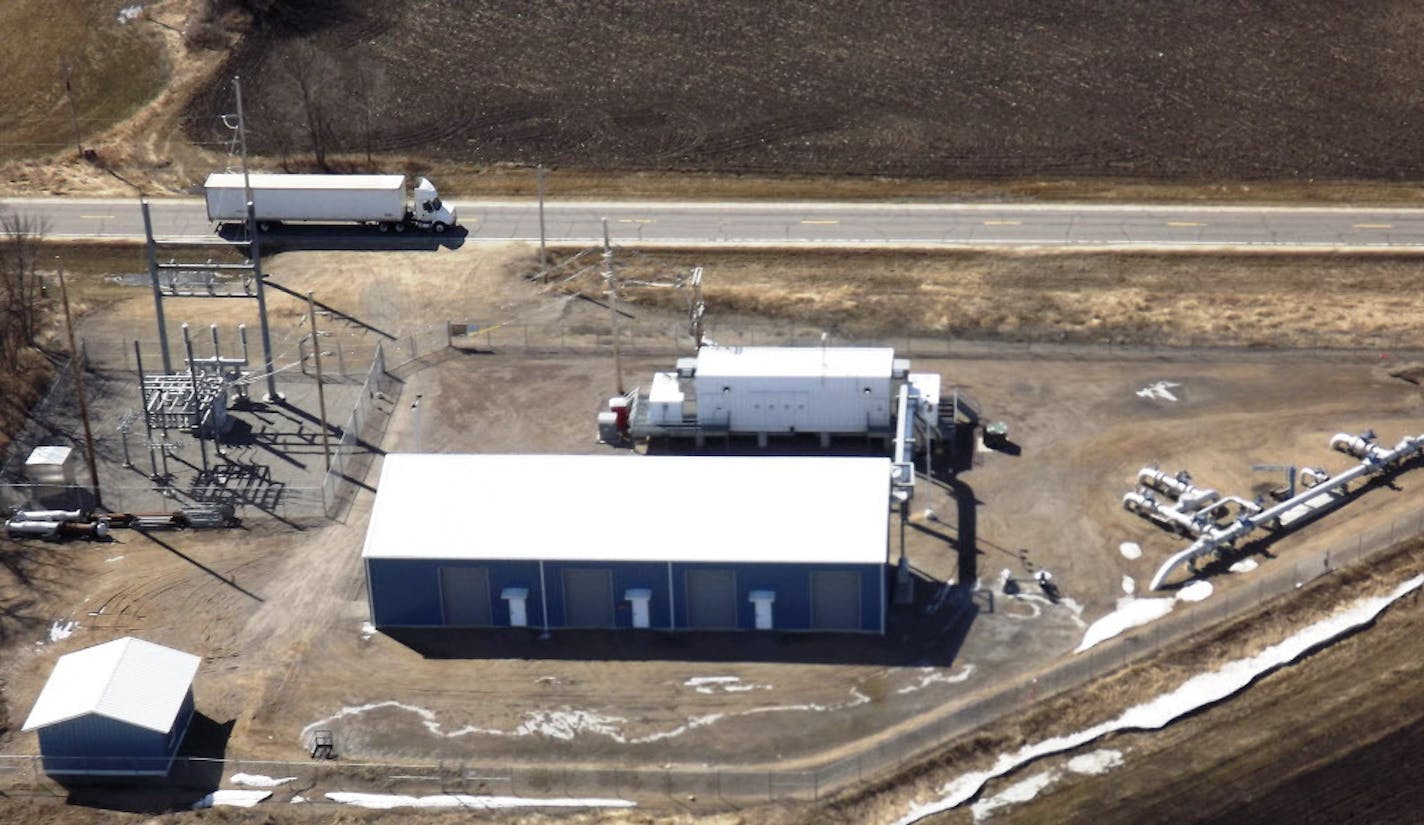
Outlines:
{"type": "Polygon", "coordinates": [[[372,623],[884,633],[890,462],[386,456],[372,623]]]}

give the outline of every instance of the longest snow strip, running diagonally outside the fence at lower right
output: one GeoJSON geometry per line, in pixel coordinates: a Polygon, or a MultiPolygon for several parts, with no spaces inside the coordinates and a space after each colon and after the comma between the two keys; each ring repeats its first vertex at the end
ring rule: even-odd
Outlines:
{"type": "Polygon", "coordinates": [[[1178,685],[1176,690],[1128,708],[1114,720],[1075,734],[1032,742],[1011,754],[1000,754],[987,771],[973,771],[954,778],[940,788],[941,797],[938,799],[911,806],[904,816],[896,821],[896,825],[911,825],[926,816],[958,808],[973,799],[990,779],[1002,777],[1034,759],[1081,748],[1118,731],[1155,731],[1198,708],[1226,700],[1250,685],[1262,674],[1290,664],[1306,653],[1370,624],[1386,607],[1414,593],[1421,586],[1424,586],[1424,574],[1401,583],[1386,596],[1360,598],[1353,606],[1304,627],[1256,655],[1233,660],[1215,671],[1198,674],[1178,685]]]}

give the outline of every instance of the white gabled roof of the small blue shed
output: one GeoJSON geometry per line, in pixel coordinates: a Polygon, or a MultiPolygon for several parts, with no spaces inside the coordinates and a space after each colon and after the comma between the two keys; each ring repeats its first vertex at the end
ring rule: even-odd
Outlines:
{"type": "Polygon", "coordinates": [[[168,732],[201,663],[189,653],[131,635],[61,655],[24,730],[98,714],[168,732]]]}

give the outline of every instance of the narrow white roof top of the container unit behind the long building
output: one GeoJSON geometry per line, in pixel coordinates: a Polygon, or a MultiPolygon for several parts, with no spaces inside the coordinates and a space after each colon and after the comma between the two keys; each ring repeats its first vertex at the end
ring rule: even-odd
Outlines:
{"type": "Polygon", "coordinates": [[[886,378],[889,346],[703,346],[698,378],[886,378]]]}

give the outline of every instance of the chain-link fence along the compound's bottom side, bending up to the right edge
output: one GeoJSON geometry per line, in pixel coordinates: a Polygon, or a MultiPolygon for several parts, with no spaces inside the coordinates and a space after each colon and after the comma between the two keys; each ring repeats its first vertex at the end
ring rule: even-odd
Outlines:
{"type": "MultiPolygon", "coordinates": [[[[1068,655],[1037,673],[1008,681],[991,692],[967,701],[950,701],[938,710],[906,720],[881,735],[856,742],[852,752],[832,761],[807,758],[805,769],[706,767],[520,765],[501,762],[370,764],[347,759],[312,762],[258,762],[231,758],[179,759],[172,784],[197,782],[208,787],[235,772],[292,777],[276,791],[322,801],[322,794],[363,791],[404,795],[510,794],[521,797],[671,798],[729,805],[756,801],[819,799],[856,782],[881,777],[907,761],[1032,707],[1057,694],[1081,688],[1122,667],[1145,660],[1198,633],[1294,593],[1304,584],[1361,563],[1414,540],[1424,531],[1424,509],[1387,524],[1364,530],[1353,539],[1299,557],[1266,561],[1247,584],[1225,587],[1200,603],[1178,603],[1171,614],[1131,630],[1081,654],[1068,655]]],[[[337,742],[337,747],[340,744],[337,742]]],[[[38,757],[0,755],[0,789],[6,792],[56,792],[44,778],[38,757]]],[[[281,797],[279,797],[281,798],[281,797]]]]}

